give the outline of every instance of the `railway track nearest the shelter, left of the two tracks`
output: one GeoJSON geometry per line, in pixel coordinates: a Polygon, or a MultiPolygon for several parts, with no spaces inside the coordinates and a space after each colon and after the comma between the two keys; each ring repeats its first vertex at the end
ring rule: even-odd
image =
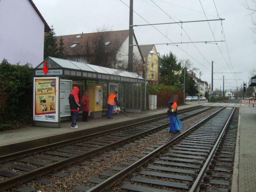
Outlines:
{"type": "MultiPolygon", "coordinates": [[[[184,110],[185,119],[207,111],[213,107],[198,107],[184,110]]],[[[169,125],[168,117],[160,117],[130,126],[100,132],[74,140],[29,149],[0,157],[0,191],[17,183],[29,181],[52,170],[80,163],[82,160],[114,146],[118,146],[142,135],[154,132],[169,125]]],[[[81,163],[82,162],[82,163],[81,163]]]]}

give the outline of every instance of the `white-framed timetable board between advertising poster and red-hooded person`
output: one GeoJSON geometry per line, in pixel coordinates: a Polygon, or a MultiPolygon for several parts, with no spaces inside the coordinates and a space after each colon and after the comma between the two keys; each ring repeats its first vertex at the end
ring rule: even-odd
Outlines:
{"type": "Polygon", "coordinates": [[[60,116],[70,116],[68,97],[72,91],[72,80],[60,80],[60,116]]]}

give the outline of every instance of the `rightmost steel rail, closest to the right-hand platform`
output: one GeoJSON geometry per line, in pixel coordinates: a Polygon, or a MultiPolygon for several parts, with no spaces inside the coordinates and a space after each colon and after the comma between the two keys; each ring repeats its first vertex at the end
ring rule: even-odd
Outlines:
{"type": "Polygon", "coordinates": [[[234,107],[233,110],[232,110],[232,112],[231,112],[231,114],[230,114],[230,116],[228,117],[228,120],[227,120],[226,124],[225,124],[224,127],[222,128],[222,131],[221,131],[221,133],[220,133],[220,135],[219,135],[217,141],[215,142],[215,144],[214,144],[214,146],[213,146],[213,148],[212,148],[211,153],[209,154],[208,158],[207,158],[206,161],[204,162],[204,165],[203,165],[201,171],[199,172],[199,174],[197,175],[196,180],[194,181],[194,183],[193,183],[192,187],[190,188],[189,192],[195,192],[195,191],[198,191],[198,190],[199,190],[200,185],[201,185],[201,181],[202,181],[202,179],[203,179],[203,177],[204,177],[204,174],[205,174],[205,172],[207,171],[208,166],[209,166],[210,163],[212,162],[212,158],[214,157],[215,151],[217,150],[217,148],[218,148],[219,145],[220,145],[221,139],[222,139],[222,137],[223,137],[223,135],[224,135],[224,133],[225,133],[227,127],[228,127],[228,124],[229,124],[229,122],[230,122],[230,120],[231,120],[233,114],[235,113],[235,110],[236,110],[236,108],[234,107]]]}

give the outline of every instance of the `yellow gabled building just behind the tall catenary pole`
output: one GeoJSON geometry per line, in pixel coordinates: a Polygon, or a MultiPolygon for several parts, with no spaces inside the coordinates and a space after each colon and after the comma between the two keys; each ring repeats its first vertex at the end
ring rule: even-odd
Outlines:
{"type": "MultiPolygon", "coordinates": [[[[151,84],[158,84],[159,82],[159,56],[156,51],[155,45],[142,45],[140,46],[144,62],[146,63],[146,54],[148,52],[148,68],[147,68],[147,81],[151,84]],[[154,54],[150,55],[149,52],[153,51],[154,54]]],[[[143,67],[145,71],[145,65],[143,67]]]]}

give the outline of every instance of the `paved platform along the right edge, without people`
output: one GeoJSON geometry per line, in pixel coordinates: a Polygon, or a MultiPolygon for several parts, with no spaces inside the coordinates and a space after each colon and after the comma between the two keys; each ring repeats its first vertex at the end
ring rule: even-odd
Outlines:
{"type": "Polygon", "coordinates": [[[256,105],[239,104],[240,118],[236,140],[231,192],[256,191],[256,105]]]}

